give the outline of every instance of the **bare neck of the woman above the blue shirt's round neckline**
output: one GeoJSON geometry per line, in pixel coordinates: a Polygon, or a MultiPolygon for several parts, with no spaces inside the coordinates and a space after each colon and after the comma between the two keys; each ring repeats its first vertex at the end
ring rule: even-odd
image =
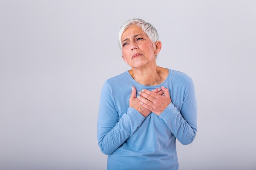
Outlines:
{"type": "Polygon", "coordinates": [[[168,70],[155,66],[154,68],[150,67],[144,69],[132,68],[129,73],[139,84],[154,86],[164,82],[168,75],[168,70]]]}

